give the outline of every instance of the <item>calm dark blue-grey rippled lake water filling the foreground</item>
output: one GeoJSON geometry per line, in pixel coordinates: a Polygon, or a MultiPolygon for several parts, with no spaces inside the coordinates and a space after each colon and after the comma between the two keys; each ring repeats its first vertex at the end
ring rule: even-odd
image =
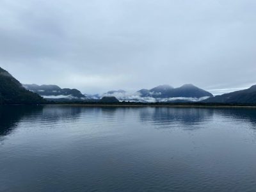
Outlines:
{"type": "Polygon", "coordinates": [[[256,191],[256,109],[0,108],[0,191],[256,191]]]}

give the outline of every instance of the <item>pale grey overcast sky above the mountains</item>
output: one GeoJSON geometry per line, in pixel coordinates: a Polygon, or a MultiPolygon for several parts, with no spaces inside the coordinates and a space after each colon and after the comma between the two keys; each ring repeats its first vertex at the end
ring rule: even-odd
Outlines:
{"type": "Polygon", "coordinates": [[[82,93],[248,88],[255,10],[255,0],[0,0],[0,67],[82,93]]]}

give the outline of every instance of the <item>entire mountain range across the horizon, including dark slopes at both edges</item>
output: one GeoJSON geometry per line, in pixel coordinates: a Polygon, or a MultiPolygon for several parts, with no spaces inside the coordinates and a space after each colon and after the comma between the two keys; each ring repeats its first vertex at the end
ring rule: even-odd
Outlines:
{"type": "Polygon", "coordinates": [[[21,84],[10,73],[0,68],[0,104],[44,104],[46,100],[79,101],[79,102],[202,102],[256,104],[256,85],[246,90],[225,93],[213,97],[193,84],[184,84],[179,88],[170,85],[160,85],[151,89],[141,89],[137,92],[112,90],[102,95],[83,94],[77,89],[60,88],[59,86],[21,84]]]}

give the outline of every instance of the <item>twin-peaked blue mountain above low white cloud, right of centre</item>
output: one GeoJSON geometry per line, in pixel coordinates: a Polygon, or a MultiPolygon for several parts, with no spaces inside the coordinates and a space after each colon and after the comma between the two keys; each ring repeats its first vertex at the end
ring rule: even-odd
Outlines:
{"type": "Polygon", "coordinates": [[[173,88],[169,85],[161,85],[151,90],[140,90],[138,91],[141,97],[154,97],[154,98],[202,98],[202,97],[213,97],[212,93],[206,92],[193,84],[184,84],[179,88],[173,88]]]}

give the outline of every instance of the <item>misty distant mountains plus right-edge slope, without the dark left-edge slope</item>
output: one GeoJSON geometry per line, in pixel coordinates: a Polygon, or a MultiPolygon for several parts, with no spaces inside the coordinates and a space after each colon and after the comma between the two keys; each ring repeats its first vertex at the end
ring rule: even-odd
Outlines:
{"type": "MultiPolygon", "coordinates": [[[[111,90],[102,95],[82,94],[76,89],[61,89],[56,85],[24,84],[31,92],[38,93],[47,100],[58,101],[97,101],[102,97],[115,97],[126,102],[203,102],[203,103],[256,103],[256,85],[237,92],[225,93],[213,97],[212,93],[202,90],[193,84],[184,84],[179,88],[173,88],[164,84],[152,89],[141,89],[137,92],[125,92],[124,90],[111,90]]],[[[106,98],[104,98],[106,99],[106,98]]],[[[114,100],[114,99],[113,99],[114,100]]]]}

